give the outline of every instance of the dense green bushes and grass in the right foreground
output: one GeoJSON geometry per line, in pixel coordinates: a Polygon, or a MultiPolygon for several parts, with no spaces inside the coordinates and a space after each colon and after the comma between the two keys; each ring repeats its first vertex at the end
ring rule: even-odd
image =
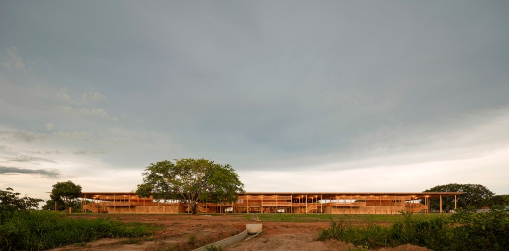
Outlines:
{"type": "Polygon", "coordinates": [[[494,206],[489,213],[475,211],[467,207],[450,217],[408,213],[390,227],[341,219],[320,232],[318,240],[337,239],[370,248],[410,243],[433,250],[503,250],[509,246],[509,214],[503,206],[494,206]]]}

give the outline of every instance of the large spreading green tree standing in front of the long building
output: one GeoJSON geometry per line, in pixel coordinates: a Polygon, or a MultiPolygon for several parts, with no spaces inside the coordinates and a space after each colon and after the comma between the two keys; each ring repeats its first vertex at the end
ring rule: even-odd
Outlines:
{"type": "Polygon", "coordinates": [[[204,159],[152,163],[142,176],[143,183],[136,190],[139,197],[152,195],[155,200],[180,200],[189,206],[193,215],[200,202],[231,204],[237,201],[238,192],[245,192],[244,184],[230,165],[204,159]]]}

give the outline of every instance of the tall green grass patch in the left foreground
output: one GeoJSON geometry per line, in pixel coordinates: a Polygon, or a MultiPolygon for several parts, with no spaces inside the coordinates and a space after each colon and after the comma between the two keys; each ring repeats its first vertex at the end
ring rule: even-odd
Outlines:
{"type": "Polygon", "coordinates": [[[106,237],[141,237],[148,226],[106,219],[71,219],[45,211],[0,212],[0,250],[43,250],[106,237]]]}

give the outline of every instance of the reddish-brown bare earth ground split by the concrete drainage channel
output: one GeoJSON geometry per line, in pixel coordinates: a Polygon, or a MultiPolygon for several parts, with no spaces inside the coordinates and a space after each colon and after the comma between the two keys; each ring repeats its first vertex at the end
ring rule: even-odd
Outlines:
{"type": "MultiPolygon", "coordinates": [[[[172,214],[90,214],[73,215],[76,218],[110,217],[122,222],[156,223],[164,226],[153,237],[138,238],[134,244],[125,244],[128,238],[105,238],[84,245],[67,245],[51,250],[192,250],[236,235],[246,229],[243,215],[172,215],[172,214]],[[195,235],[193,243],[189,236],[195,235]]],[[[348,250],[352,244],[339,241],[315,241],[328,222],[258,222],[263,224],[260,236],[238,242],[228,250],[348,250]]],[[[131,241],[132,242],[132,241],[131,241]]],[[[425,247],[402,245],[379,250],[424,251],[425,247]]]]}

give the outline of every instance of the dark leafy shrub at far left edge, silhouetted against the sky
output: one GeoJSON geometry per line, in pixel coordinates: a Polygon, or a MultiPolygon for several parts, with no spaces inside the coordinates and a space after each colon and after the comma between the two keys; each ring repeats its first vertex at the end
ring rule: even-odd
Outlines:
{"type": "Polygon", "coordinates": [[[0,190],[0,212],[37,208],[39,202],[43,201],[27,196],[20,198],[20,195],[20,193],[14,193],[11,187],[7,187],[5,191],[0,190]]]}

